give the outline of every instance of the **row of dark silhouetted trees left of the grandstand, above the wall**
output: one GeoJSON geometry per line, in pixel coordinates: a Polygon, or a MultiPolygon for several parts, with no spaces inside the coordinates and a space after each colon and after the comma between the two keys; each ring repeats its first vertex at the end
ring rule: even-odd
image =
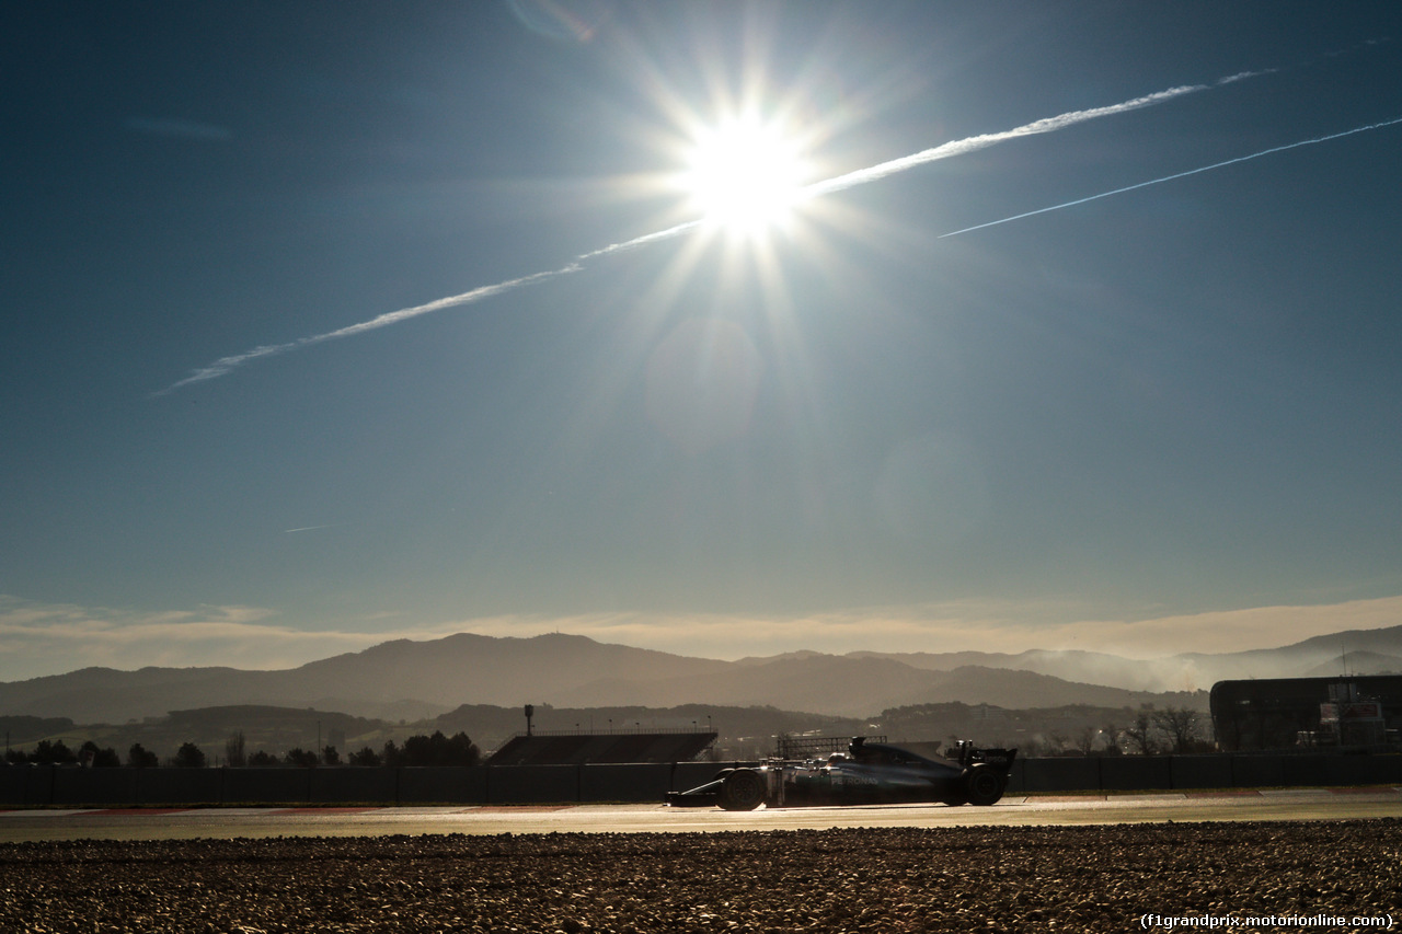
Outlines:
{"type": "MultiPolygon", "coordinates": [[[[482,753],[467,733],[457,732],[444,736],[443,731],[432,735],[409,736],[404,745],[397,745],[393,739],[386,742],[379,750],[365,746],[342,760],[335,746],[317,749],[289,749],[278,756],[265,749],[254,753],[245,750],[247,742],[241,732],[234,733],[224,742],[224,764],[231,769],[268,769],[268,767],[314,767],[314,766],[477,766],[482,762],[482,753]]],[[[126,750],[126,759],[115,749],[102,749],[91,739],[76,750],[70,749],[62,739],[41,739],[34,749],[24,752],[20,749],[6,750],[4,764],[7,766],[87,766],[93,769],[154,769],[161,766],[160,756],[142,746],[132,743],[126,750]]],[[[182,743],[172,757],[165,762],[175,769],[203,769],[209,764],[209,756],[192,742],[182,743]]]]}

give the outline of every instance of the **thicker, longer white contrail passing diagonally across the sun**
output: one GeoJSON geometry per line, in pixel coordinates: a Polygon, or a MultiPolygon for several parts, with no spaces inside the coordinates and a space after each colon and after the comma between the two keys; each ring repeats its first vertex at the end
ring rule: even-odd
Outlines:
{"type": "MultiPolygon", "coordinates": [[[[903,156],[901,158],[893,158],[886,163],[879,163],[868,168],[859,168],[844,175],[837,175],[836,178],[829,178],[827,181],[815,182],[806,187],[801,192],[802,199],[820,198],[823,195],[830,195],[833,192],[844,191],[855,185],[865,185],[868,182],[886,178],[887,175],[894,175],[896,172],[903,172],[917,165],[924,165],[939,158],[949,158],[952,156],[962,156],[965,153],[972,153],[979,149],[994,146],[1009,139],[1019,139],[1023,136],[1035,136],[1037,133],[1052,133],[1067,126],[1074,126],[1075,123],[1084,123],[1085,121],[1094,121],[1102,116],[1112,116],[1115,114],[1124,114],[1127,111],[1136,111],[1144,107],[1152,107],[1155,104],[1162,104],[1164,101],[1171,101],[1173,98],[1182,97],[1185,94],[1193,94],[1196,91],[1206,91],[1210,87],[1230,84],[1232,81],[1239,81],[1246,77],[1253,77],[1255,74],[1263,74],[1265,72],[1242,72],[1239,74],[1232,74],[1230,77],[1221,79],[1214,84],[1190,84],[1182,87],[1171,87],[1165,91],[1158,91],[1155,94],[1147,94],[1144,97],[1136,97],[1120,104],[1112,104],[1109,107],[1095,107],[1084,111],[1070,111],[1059,116],[1049,116],[1022,126],[1002,130],[1000,133],[981,133],[977,136],[969,136],[966,139],[953,140],[935,146],[932,149],[921,150],[911,156],[903,156]]],[[[1166,180],[1165,180],[1166,181],[1166,180]]],[[[1145,182],[1151,184],[1151,182],[1145,182]]],[[[1053,210],[1047,208],[1044,210],[1053,210]]],[[[1035,212],[1036,213],[1036,212],[1035,212]]],[[[1011,217],[1009,217],[1011,220],[1011,217]]],[[[400,321],[407,321],[409,318],[416,318],[421,314],[432,314],[433,311],[442,311],[443,309],[454,309],[463,304],[472,304],[475,302],[482,302],[484,299],[491,299],[494,296],[502,295],[505,292],[513,292],[516,289],[523,289],[526,286],[538,285],[550,279],[557,279],[559,276],[569,275],[572,272],[579,272],[582,265],[590,259],[600,257],[607,257],[615,252],[625,252],[629,250],[637,250],[649,244],[660,243],[663,240],[672,240],[673,237],[680,237],[690,233],[701,226],[701,220],[691,220],[687,223],[677,224],[674,227],[667,227],[666,230],[659,230],[651,234],[644,234],[641,237],[634,237],[624,243],[610,244],[601,250],[593,250],[590,252],[583,252],[575,257],[569,264],[561,266],[559,269],[550,269],[545,272],[536,272],[529,276],[520,276],[519,279],[508,279],[505,282],[498,282],[496,285],[479,286],[471,292],[464,292],[461,295],[447,296],[444,299],[437,299],[429,302],[428,304],[416,304],[408,309],[400,309],[398,311],[387,311],[381,316],[362,321],[359,324],[350,324],[335,331],[327,331],[325,334],[315,334],[311,337],[297,338],[296,341],[289,341],[286,344],[268,344],[264,346],[257,346],[244,353],[237,353],[234,356],[224,356],[213,363],[191,370],[189,376],[185,379],[171,383],[165,388],[153,393],[153,398],[157,395],[165,395],[174,393],[175,390],[189,386],[191,383],[203,383],[205,380],[217,379],[224,376],[234,369],[264,356],[278,356],[280,353],[287,353],[290,351],[299,351],[313,344],[322,344],[325,341],[334,341],[343,337],[352,337],[362,334],[365,331],[373,331],[376,328],[383,328],[391,324],[398,324],[400,321]]],[[[963,233],[963,231],[956,231],[963,233]]],[[[951,234],[946,234],[951,236],[951,234]]]]}

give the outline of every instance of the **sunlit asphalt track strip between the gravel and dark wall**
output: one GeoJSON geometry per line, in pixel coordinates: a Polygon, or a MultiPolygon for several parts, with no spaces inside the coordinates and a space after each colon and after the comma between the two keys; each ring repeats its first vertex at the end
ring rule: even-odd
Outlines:
{"type": "Polygon", "coordinates": [[[991,808],[883,805],[733,813],[665,805],[0,811],[0,843],[360,837],[433,833],[708,833],[830,827],[1059,826],[1402,818],[1402,788],[1008,797],[991,808]]]}

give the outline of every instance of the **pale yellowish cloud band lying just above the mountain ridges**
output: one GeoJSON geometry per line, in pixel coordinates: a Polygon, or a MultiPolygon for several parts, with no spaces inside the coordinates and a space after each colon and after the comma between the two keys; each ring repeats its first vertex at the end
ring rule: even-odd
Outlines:
{"type": "MultiPolygon", "coordinates": [[[[0,595],[0,682],[60,675],[88,666],[135,670],[230,666],[287,669],[388,639],[437,639],[454,632],[533,637],[586,635],[600,642],[737,659],[816,651],[1004,652],[1029,649],[1109,652],[1150,663],[1155,690],[1207,687],[1210,659],[1173,658],[1185,645],[1203,654],[1277,648],[1345,630],[1395,625],[1402,596],[1322,606],[1269,606],[1144,620],[1087,618],[1085,607],[1054,600],[952,600],[914,606],[852,607],[809,616],[739,613],[592,613],[495,616],[436,625],[397,627],[362,620],[369,631],[296,630],[261,607],[206,606],[136,613],[43,604],[0,595]],[[376,625],[377,624],[377,625],[376,625]],[[372,630],[372,625],[374,628],[372,630]]],[[[1346,649],[1349,647],[1340,647],[1346,649]]],[[[1220,665],[1217,668],[1221,668],[1220,665]]],[[[1231,675],[1239,676],[1239,675],[1231,675]]]]}

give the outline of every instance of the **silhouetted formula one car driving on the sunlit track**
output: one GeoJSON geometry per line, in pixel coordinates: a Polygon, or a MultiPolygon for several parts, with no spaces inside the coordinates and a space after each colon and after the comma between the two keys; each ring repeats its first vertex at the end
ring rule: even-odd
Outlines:
{"type": "Polygon", "coordinates": [[[805,762],[773,759],[722,769],[691,791],[667,794],[673,808],[719,805],[726,811],[848,804],[939,801],[991,805],[1002,798],[1016,749],[979,749],[960,740],[953,759],[925,759],[899,746],[855,736],[847,753],[805,762]]]}

